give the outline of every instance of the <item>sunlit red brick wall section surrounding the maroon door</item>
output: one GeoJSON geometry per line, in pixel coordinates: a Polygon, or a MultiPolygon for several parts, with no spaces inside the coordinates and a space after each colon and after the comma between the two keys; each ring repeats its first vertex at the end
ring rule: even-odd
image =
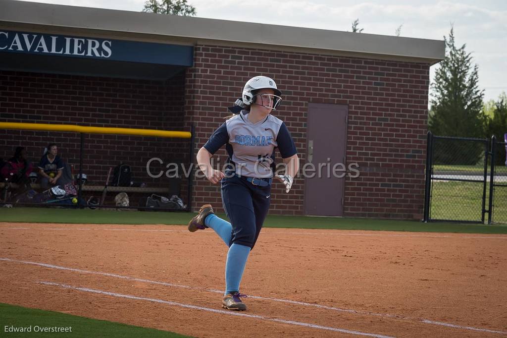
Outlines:
{"type": "MultiPolygon", "coordinates": [[[[345,216],[422,217],[429,64],[217,46],[194,51],[185,123],[196,124],[196,151],[223,123],[244,83],[270,76],[283,91],[276,116],[291,131],[302,165],[308,103],[348,105],[347,163],[357,162],[360,176],[346,179],[345,216]]],[[[225,150],[217,154],[224,163],[225,150]]],[[[194,191],[194,209],[204,202],[221,206],[219,186],[196,179],[194,191]]],[[[275,184],[270,213],[302,214],[303,202],[303,179],[289,195],[275,184]]]]}

